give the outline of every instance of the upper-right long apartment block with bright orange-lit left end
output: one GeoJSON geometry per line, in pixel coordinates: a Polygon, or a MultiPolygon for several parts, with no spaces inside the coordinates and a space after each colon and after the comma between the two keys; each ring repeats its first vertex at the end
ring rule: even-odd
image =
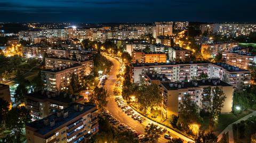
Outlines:
{"type": "Polygon", "coordinates": [[[230,51],[233,47],[238,46],[238,41],[226,41],[222,43],[202,44],[201,53],[205,57],[215,57],[224,51],[230,51]]]}

